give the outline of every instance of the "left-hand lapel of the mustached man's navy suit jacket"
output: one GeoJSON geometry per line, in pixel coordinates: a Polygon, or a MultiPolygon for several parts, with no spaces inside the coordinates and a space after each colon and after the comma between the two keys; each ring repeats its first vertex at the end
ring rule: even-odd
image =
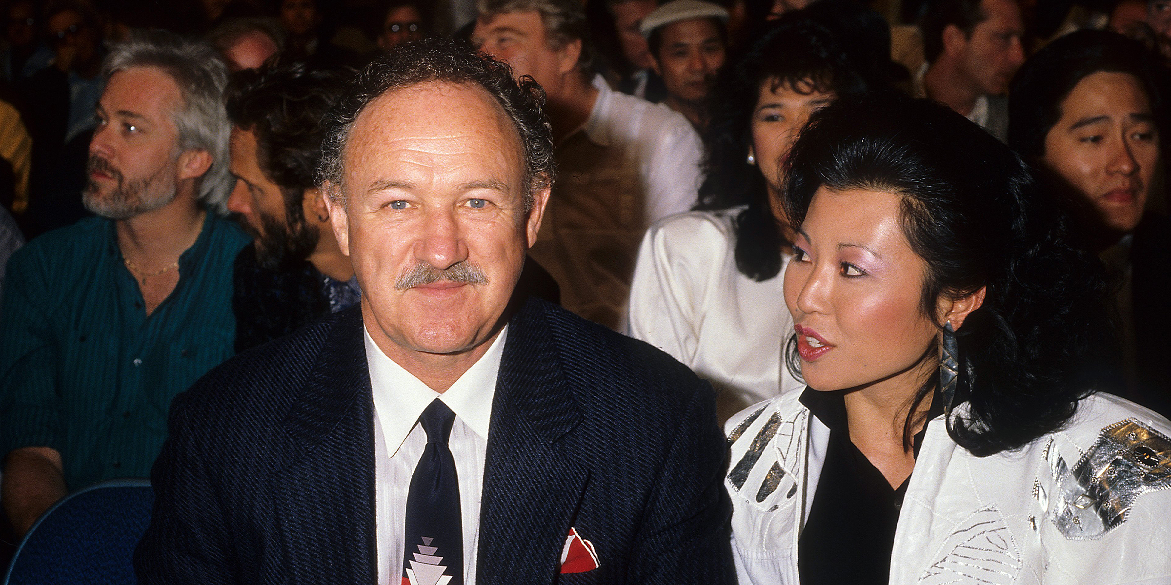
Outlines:
{"type": "Polygon", "coordinates": [[[345,311],[283,421],[290,464],[271,479],[289,583],[372,583],[374,420],[362,315],[345,311]]]}

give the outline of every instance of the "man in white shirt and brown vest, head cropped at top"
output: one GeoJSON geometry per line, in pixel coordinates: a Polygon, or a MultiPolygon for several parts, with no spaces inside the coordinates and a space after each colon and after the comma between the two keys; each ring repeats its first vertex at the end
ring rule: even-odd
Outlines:
{"type": "Polygon", "coordinates": [[[610,90],[590,69],[578,0],[481,0],[480,49],[545,89],[559,179],[532,256],[561,304],[611,329],[625,317],[646,227],[691,209],[703,144],[678,112],[610,90]]]}

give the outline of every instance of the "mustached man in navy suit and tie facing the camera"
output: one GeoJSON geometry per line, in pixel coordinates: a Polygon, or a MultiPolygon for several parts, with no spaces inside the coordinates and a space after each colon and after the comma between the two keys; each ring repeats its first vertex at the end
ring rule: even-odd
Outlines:
{"type": "Polygon", "coordinates": [[[445,40],[357,77],[321,177],[361,307],[174,400],[142,583],[732,583],[707,384],[514,294],[539,96],[445,40]]]}

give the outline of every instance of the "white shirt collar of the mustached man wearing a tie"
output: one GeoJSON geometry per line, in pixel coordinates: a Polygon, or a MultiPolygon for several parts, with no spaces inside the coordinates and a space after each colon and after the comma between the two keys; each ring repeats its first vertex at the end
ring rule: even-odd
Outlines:
{"type": "Polygon", "coordinates": [[[382,427],[388,456],[393,456],[415,428],[419,415],[436,398],[443,400],[459,420],[481,439],[488,439],[488,422],[492,420],[492,399],[497,392],[497,376],[504,356],[508,326],[488,346],[488,351],[472,364],[446,392],[439,393],[386,357],[374,343],[365,325],[362,326],[365,342],[367,364],[370,369],[370,386],[374,391],[376,422],[382,427]]]}

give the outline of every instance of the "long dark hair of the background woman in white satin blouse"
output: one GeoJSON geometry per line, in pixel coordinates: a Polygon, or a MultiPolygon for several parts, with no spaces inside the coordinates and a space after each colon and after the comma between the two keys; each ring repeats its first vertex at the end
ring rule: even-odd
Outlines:
{"type": "MultiPolygon", "coordinates": [[[[808,91],[850,95],[868,83],[848,61],[835,35],[801,16],[786,14],[735,64],[723,74],[713,96],[713,112],[704,136],[707,174],[699,187],[698,211],[746,206],[735,218],[735,263],[745,276],[767,281],[781,269],[786,242],[768,206],[760,170],[747,163],[752,115],[760,87],[788,85],[808,91]]],[[[767,164],[761,161],[760,164],[767,164]]]]}

